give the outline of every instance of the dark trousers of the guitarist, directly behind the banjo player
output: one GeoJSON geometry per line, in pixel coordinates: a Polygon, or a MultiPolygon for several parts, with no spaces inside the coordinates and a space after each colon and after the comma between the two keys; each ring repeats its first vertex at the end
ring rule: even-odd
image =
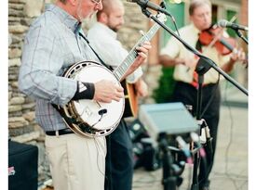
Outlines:
{"type": "Polygon", "coordinates": [[[133,175],[132,142],[128,126],[121,120],[107,137],[105,190],[131,190],[133,175]]]}

